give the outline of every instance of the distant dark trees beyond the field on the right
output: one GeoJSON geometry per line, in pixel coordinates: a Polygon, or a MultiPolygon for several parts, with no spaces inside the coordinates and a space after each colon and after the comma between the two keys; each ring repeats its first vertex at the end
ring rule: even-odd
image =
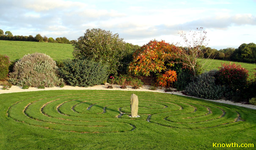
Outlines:
{"type": "Polygon", "coordinates": [[[204,47],[203,51],[204,58],[256,63],[256,44],[254,43],[241,44],[237,49],[229,47],[219,51],[210,47],[204,47]]]}

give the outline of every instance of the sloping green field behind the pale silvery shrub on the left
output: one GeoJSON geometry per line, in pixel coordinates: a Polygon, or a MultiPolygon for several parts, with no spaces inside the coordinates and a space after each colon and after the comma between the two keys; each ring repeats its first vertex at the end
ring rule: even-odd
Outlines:
{"type": "Polygon", "coordinates": [[[24,55],[35,52],[49,55],[53,60],[73,57],[72,44],[0,40],[0,45],[0,54],[9,56],[11,60],[20,59],[24,55]]]}

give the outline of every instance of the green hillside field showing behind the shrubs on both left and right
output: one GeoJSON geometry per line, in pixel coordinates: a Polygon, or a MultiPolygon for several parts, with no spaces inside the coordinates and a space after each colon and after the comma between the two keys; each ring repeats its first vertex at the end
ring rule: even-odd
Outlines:
{"type": "MultiPolygon", "coordinates": [[[[0,54],[7,55],[11,60],[19,59],[26,54],[41,52],[52,57],[53,60],[72,59],[72,44],[44,43],[44,42],[28,42],[28,41],[2,41],[0,40],[0,54]]],[[[221,63],[229,63],[225,60],[209,60],[203,66],[205,71],[218,69],[221,63]]],[[[242,65],[249,71],[249,75],[253,76],[256,64],[231,62],[242,65]]]]}

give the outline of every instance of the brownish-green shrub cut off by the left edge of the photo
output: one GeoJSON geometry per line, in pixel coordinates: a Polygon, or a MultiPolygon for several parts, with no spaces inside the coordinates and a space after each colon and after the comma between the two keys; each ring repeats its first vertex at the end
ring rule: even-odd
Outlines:
{"type": "Polygon", "coordinates": [[[0,55],[0,80],[7,78],[10,64],[8,56],[0,55]]]}

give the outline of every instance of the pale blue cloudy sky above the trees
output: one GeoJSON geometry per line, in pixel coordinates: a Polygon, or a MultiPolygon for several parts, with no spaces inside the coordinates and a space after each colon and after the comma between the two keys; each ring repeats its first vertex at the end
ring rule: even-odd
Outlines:
{"type": "Polygon", "coordinates": [[[87,29],[144,45],[184,45],[181,31],[203,27],[208,47],[256,43],[256,0],[0,0],[0,29],[13,35],[77,40],[87,29]]]}

